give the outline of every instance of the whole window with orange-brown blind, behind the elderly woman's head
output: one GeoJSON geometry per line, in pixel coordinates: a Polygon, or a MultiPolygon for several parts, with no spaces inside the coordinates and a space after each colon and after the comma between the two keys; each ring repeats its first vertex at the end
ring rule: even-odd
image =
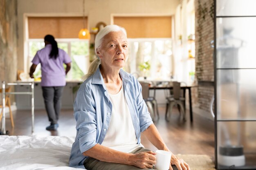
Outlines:
{"type": "Polygon", "coordinates": [[[124,70],[135,77],[170,79],[173,16],[113,16],[113,23],[127,31],[129,58],[124,70]]]}

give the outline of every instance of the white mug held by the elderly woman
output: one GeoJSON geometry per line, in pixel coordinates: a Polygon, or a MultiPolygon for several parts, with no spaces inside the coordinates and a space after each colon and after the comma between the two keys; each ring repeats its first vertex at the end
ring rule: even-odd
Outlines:
{"type": "Polygon", "coordinates": [[[155,151],[157,155],[155,157],[157,158],[157,163],[155,164],[156,170],[168,170],[170,168],[171,163],[171,152],[165,151],[165,150],[157,150],[155,151]]]}

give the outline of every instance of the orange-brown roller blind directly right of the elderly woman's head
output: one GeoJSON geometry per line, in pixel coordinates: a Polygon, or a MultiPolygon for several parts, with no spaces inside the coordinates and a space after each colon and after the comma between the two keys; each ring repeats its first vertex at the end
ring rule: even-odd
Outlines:
{"type": "Polygon", "coordinates": [[[114,17],[114,24],[127,31],[128,38],[171,38],[171,16],[114,17]]]}

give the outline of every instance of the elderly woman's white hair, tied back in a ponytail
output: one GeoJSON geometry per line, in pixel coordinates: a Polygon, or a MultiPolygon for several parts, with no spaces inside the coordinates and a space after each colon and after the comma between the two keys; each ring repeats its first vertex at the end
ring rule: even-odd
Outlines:
{"type": "Polygon", "coordinates": [[[126,30],[118,25],[107,25],[105,26],[103,29],[101,29],[101,31],[99,31],[99,33],[97,33],[96,37],[95,37],[95,41],[94,41],[94,52],[96,55],[96,59],[93,60],[93,62],[90,64],[90,67],[88,69],[88,74],[86,74],[85,76],[83,76],[82,79],[87,79],[88,77],[90,77],[91,75],[93,75],[95,73],[95,71],[97,70],[97,68],[99,67],[99,65],[101,64],[101,60],[99,58],[99,56],[97,55],[97,50],[100,48],[104,37],[110,33],[110,32],[117,32],[117,31],[122,31],[126,36],[126,30]]]}

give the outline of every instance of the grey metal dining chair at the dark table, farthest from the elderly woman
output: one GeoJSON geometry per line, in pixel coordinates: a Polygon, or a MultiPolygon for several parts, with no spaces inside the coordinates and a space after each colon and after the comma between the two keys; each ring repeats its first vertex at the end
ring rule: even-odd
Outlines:
{"type": "Polygon", "coordinates": [[[173,109],[173,106],[177,106],[179,113],[182,113],[183,120],[186,121],[186,115],[185,115],[185,98],[180,95],[180,82],[173,82],[173,90],[172,95],[170,97],[166,97],[167,103],[166,103],[166,112],[165,112],[165,119],[166,121],[170,121],[171,112],[173,109]]]}

